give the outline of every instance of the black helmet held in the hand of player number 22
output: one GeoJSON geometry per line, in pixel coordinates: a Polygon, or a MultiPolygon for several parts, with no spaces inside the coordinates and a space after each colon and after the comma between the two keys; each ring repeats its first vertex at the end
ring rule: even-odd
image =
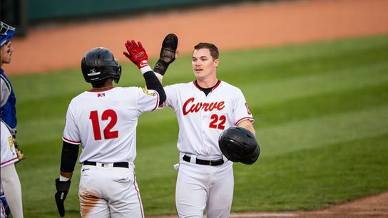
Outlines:
{"type": "Polygon", "coordinates": [[[221,152],[228,160],[251,165],[260,155],[260,147],[255,135],[245,128],[228,128],[218,139],[221,152]]]}

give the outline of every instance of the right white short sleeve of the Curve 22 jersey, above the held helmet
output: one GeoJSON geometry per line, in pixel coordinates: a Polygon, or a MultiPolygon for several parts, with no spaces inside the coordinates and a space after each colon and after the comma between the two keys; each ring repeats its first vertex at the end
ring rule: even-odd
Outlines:
{"type": "Polygon", "coordinates": [[[251,123],[255,122],[252,117],[252,113],[250,113],[247,101],[245,100],[245,97],[242,94],[241,90],[238,90],[235,95],[233,115],[235,117],[235,125],[241,123],[242,120],[250,120],[251,123]]]}

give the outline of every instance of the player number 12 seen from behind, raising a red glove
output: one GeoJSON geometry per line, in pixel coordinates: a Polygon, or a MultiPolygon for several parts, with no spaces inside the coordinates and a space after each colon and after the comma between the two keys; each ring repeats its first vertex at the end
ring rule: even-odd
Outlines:
{"type": "Polygon", "coordinates": [[[136,125],[139,115],[164,103],[165,92],[141,42],[127,41],[126,48],[124,55],[143,73],[148,89],[113,87],[121,66],[108,48],[93,48],[82,58],[82,73],[92,88],[73,98],[66,113],[55,195],[62,217],[79,145],[81,217],[144,217],[133,164],[136,125]]]}

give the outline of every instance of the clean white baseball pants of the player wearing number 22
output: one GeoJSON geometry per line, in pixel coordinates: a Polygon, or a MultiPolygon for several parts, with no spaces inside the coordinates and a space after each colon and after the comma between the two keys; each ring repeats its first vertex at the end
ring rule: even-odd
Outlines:
{"type": "Polygon", "coordinates": [[[180,160],[175,204],[180,218],[227,218],[233,200],[233,163],[198,165],[180,160]]]}

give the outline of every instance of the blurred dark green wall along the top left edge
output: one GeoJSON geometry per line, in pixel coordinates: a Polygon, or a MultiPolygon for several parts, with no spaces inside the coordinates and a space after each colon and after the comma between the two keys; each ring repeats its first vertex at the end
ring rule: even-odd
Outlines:
{"type": "Polygon", "coordinates": [[[136,16],[147,11],[184,9],[216,4],[240,3],[238,0],[1,0],[1,21],[18,29],[25,36],[29,25],[53,21],[98,19],[112,16],[136,16]]]}

